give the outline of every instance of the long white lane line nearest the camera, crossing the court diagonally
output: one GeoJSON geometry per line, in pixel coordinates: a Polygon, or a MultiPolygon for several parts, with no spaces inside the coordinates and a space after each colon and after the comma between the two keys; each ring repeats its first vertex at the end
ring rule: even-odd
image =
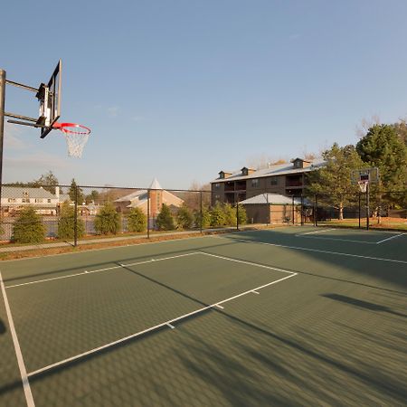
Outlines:
{"type": "Polygon", "coordinates": [[[295,277],[297,275],[298,275],[298,273],[293,272],[289,276],[283,277],[282,279],[276,279],[276,280],[271,281],[270,283],[264,284],[264,285],[262,285],[260,287],[256,287],[254,289],[249,289],[249,290],[241,292],[240,294],[237,294],[237,295],[235,295],[233,297],[226,298],[226,299],[223,299],[222,301],[215,302],[212,305],[206,306],[204,308],[195,309],[194,311],[189,312],[188,314],[182,315],[180,317],[175,317],[173,319],[169,319],[166,322],[162,322],[161,324],[155,325],[154,327],[149,327],[147,329],[144,329],[143,331],[136,332],[135,334],[122,337],[122,338],[120,338],[120,339],[118,339],[118,340],[116,340],[114,342],[110,342],[109,344],[101,345],[99,347],[95,347],[93,349],[90,349],[89,351],[83,352],[83,353],[81,353],[79,355],[74,355],[74,356],[68,357],[68,358],[63,359],[62,361],[56,362],[54,364],[48,364],[47,366],[44,366],[44,367],[42,367],[40,369],[37,369],[37,370],[34,370],[33,372],[30,372],[28,374],[28,377],[32,377],[32,376],[34,376],[36,374],[42,374],[43,372],[46,372],[46,371],[51,370],[51,369],[53,369],[55,367],[61,366],[62,364],[69,364],[69,363],[71,363],[71,362],[73,362],[75,360],[81,359],[83,357],[96,354],[96,353],[98,353],[98,352],[100,352],[102,350],[108,349],[109,347],[121,344],[121,343],[126,342],[129,339],[133,339],[133,338],[135,338],[137,336],[145,335],[148,332],[155,331],[155,330],[157,330],[157,329],[159,329],[161,327],[169,327],[169,326],[174,327],[173,324],[175,322],[177,322],[177,321],[181,321],[182,319],[185,319],[187,317],[191,317],[193,315],[200,314],[201,312],[207,311],[208,309],[211,309],[211,308],[222,308],[222,307],[220,307],[220,305],[224,304],[225,302],[229,302],[229,301],[232,301],[232,299],[240,298],[242,296],[245,296],[245,295],[253,292],[253,290],[265,289],[266,287],[269,287],[269,286],[271,286],[273,284],[277,284],[280,281],[283,281],[284,279],[290,279],[291,277],[295,277]]]}

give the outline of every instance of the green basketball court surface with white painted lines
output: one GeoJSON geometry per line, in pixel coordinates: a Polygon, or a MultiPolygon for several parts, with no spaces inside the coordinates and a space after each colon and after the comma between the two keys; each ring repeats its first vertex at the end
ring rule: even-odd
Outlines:
{"type": "Polygon", "coordinates": [[[407,234],[288,227],[0,270],[0,405],[407,400],[407,234]]]}

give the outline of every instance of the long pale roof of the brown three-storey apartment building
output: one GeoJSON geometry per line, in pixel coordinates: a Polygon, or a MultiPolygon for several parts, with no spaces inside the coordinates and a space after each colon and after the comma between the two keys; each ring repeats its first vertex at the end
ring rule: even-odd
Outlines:
{"type": "Polygon", "coordinates": [[[307,163],[310,163],[310,166],[305,168],[294,168],[292,163],[284,163],[284,164],[277,164],[275,166],[270,166],[269,168],[262,168],[258,171],[255,171],[249,175],[241,175],[241,171],[233,173],[231,176],[227,178],[216,178],[215,180],[211,181],[213,183],[224,183],[228,181],[239,181],[243,179],[251,179],[251,178],[261,178],[265,176],[273,176],[273,175],[289,175],[289,174],[300,174],[300,173],[308,173],[309,171],[313,171],[321,166],[324,166],[326,161],[322,158],[316,158],[313,160],[302,160],[307,163]]]}

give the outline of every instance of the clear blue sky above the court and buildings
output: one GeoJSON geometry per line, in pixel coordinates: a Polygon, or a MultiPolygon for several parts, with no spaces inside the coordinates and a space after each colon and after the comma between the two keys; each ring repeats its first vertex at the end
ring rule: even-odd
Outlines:
{"type": "MultiPolygon", "coordinates": [[[[4,182],[51,170],[185,189],[407,117],[405,0],[14,0],[2,14],[7,79],[37,87],[61,58],[60,121],[91,128],[76,159],[61,132],[6,123],[4,182]]],[[[38,107],[6,87],[6,111],[38,107]]]]}

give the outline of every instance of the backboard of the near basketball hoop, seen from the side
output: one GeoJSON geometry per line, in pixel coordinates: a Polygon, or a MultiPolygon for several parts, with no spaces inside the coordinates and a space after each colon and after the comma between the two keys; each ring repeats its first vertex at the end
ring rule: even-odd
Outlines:
{"type": "Polygon", "coordinates": [[[40,101],[37,124],[46,126],[41,128],[41,138],[47,136],[52,130],[52,125],[61,116],[61,90],[62,61],[60,60],[48,83],[42,83],[36,94],[37,99],[40,101]]]}

